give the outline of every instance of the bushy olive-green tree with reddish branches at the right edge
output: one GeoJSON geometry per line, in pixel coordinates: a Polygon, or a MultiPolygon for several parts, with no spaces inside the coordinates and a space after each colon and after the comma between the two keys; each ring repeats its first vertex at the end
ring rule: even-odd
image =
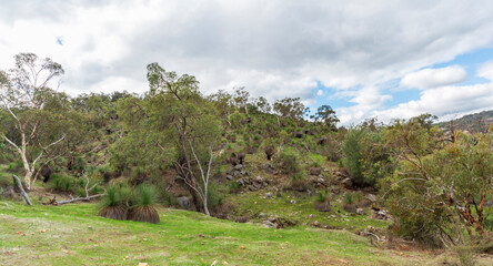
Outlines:
{"type": "Polygon", "coordinates": [[[493,188],[493,136],[456,132],[445,141],[420,117],[398,121],[383,140],[396,168],[384,198],[404,235],[435,245],[485,234],[484,203],[493,188]]]}

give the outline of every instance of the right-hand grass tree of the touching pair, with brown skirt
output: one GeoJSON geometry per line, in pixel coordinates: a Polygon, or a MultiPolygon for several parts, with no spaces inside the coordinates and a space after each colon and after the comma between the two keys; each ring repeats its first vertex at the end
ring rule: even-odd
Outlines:
{"type": "Polygon", "coordinates": [[[157,198],[157,192],[153,186],[144,184],[138,186],[132,201],[134,205],[129,212],[128,219],[159,224],[159,214],[154,208],[157,198]]]}

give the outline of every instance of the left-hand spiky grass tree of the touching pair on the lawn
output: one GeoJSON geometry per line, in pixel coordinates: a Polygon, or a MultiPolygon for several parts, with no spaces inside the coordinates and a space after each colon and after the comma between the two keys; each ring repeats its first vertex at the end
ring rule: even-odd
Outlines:
{"type": "Polygon", "coordinates": [[[107,194],[100,202],[99,216],[112,219],[127,218],[127,205],[130,197],[130,190],[119,185],[110,185],[107,194]]]}

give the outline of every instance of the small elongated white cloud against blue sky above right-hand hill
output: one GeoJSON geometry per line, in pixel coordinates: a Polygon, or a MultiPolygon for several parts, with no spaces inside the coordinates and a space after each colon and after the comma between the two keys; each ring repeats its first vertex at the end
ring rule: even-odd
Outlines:
{"type": "Polygon", "coordinates": [[[404,75],[401,85],[425,90],[463,82],[466,75],[467,73],[460,65],[451,65],[442,69],[424,69],[404,75]]]}

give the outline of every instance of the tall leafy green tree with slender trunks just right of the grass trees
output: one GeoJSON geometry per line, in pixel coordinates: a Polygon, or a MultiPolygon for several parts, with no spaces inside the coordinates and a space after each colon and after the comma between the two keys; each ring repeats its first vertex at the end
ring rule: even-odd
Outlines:
{"type": "MultiPolygon", "coordinates": [[[[148,65],[151,91],[148,96],[147,114],[152,126],[177,140],[178,156],[173,162],[180,178],[189,186],[195,207],[198,197],[203,211],[209,211],[209,185],[213,147],[220,136],[215,109],[199,92],[194,76],[168,72],[158,63],[148,65]],[[165,112],[163,112],[165,110],[165,112]]],[[[168,144],[158,143],[162,150],[168,144]]]]}

